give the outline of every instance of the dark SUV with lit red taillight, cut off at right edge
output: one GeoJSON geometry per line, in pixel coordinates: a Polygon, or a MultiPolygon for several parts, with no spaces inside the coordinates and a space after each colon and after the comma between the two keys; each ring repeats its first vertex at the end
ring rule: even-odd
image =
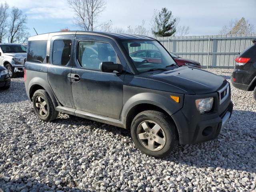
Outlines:
{"type": "Polygon", "coordinates": [[[256,100],[256,39],[235,58],[235,70],[231,76],[234,87],[246,91],[254,91],[256,100]]]}

